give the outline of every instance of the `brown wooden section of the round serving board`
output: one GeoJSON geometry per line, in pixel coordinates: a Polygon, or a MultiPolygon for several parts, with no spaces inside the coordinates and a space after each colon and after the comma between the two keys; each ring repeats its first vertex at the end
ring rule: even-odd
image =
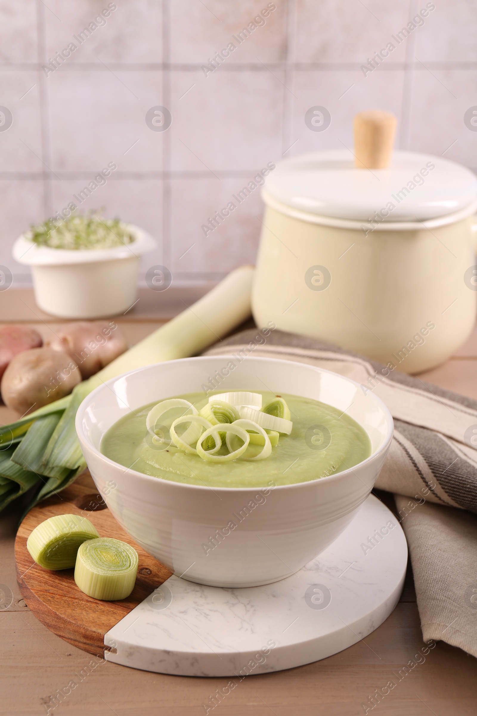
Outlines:
{"type": "Polygon", "coordinates": [[[36,618],[51,632],[91,654],[104,654],[104,634],[172,574],[119,526],[97,494],[89,473],[26,515],[16,534],[15,559],[21,594],[36,618]],[[49,517],[65,514],[82,514],[94,524],[99,536],[122,540],[137,550],[136,584],[127,599],[92,599],[78,589],[74,569],[50,571],[33,561],[26,549],[31,531],[49,517]]]}

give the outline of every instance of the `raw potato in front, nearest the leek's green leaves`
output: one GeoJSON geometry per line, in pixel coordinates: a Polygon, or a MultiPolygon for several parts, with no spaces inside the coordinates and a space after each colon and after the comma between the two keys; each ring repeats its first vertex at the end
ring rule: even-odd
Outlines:
{"type": "Polygon", "coordinates": [[[77,364],[63,351],[31,348],[16,355],[1,379],[1,397],[20,415],[69,395],[81,382],[77,364]]]}

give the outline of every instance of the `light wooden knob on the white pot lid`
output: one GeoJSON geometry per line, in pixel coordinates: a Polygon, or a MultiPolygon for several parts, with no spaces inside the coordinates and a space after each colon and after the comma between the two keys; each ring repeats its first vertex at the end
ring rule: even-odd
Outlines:
{"type": "Polygon", "coordinates": [[[355,115],[355,167],[388,168],[397,124],[395,116],[383,110],[367,110],[355,115]]]}

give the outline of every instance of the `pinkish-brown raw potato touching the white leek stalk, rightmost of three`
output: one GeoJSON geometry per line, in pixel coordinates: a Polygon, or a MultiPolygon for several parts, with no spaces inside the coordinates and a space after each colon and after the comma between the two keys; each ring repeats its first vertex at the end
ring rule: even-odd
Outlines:
{"type": "Polygon", "coordinates": [[[114,321],[68,323],[46,345],[69,354],[79,365],[83,379],[94,375],[127,350],[126,339],[114,321]]]}

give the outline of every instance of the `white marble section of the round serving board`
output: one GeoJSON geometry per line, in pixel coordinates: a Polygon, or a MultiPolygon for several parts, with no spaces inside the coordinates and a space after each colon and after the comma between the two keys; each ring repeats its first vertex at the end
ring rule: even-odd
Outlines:
{"type": "Polygon", "coordinates": [[[374,495],[343,534],[282,581],[245,589],[171,576],[104,636],[106,659],[162,674],[245,678],[324,659],[393,611],[408,549],[374,495]]]}

